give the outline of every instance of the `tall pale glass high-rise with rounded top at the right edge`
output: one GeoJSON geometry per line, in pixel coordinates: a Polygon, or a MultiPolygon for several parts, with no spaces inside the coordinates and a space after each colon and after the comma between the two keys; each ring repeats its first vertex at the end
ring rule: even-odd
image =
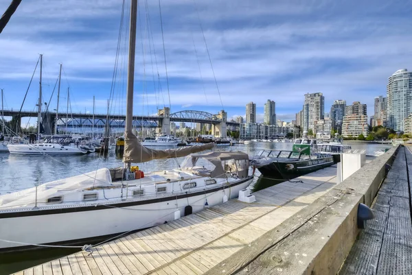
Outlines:
{"type": "Polygon", "coordinates": [[[404,120],[412,113],[412,72],[398,70],[387,84],[387,126],[404,131],[404,120]]]}

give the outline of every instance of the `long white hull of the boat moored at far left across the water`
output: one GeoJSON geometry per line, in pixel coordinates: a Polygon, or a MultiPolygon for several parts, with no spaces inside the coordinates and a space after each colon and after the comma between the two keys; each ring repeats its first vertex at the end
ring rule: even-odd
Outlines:
{"type": "Polygon", "coordinates": [[[7,145],[10,154],[26,155],[81,155],[86,154],[86,150],[78,147],[60,144],[9,144],[7,145]]]}

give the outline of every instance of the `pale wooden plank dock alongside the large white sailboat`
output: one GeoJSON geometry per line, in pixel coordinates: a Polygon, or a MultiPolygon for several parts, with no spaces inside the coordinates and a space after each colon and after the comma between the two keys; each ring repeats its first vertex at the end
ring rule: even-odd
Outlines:
{"type": "Polygon", "coordinates": [[[16,274],[204,274],[335,185],[336,165],[16,274]]]}

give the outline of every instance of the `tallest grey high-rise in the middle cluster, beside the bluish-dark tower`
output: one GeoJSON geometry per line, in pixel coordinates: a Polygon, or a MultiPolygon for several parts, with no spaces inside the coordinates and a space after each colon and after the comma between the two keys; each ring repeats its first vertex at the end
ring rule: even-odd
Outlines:
{"type": "Polygon", "coordinates": [[[314,121],[325,117],[325,97],[322,93],[307,93],[304,103],[304,131],[314,131],[314,121]]]}

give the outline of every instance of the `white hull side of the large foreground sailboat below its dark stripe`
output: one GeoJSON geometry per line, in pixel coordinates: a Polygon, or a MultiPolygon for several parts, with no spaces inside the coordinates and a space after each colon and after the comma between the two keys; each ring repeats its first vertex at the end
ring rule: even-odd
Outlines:
{"type": "MultiPolygon", "coordinates": [[[[230,189],[220,188],[211,193],[203,191],[198,195],[193,194],[177,200],[176,196],[168,197],[169,200],[163,199],[163,201],[160,198],[157,201],[161,202],[135,206],[120,206],[122,203],[131,204],[132,201],[128,200],[119,202],[115,204],[116,206],[107,204],[107,208],[102,210],[93,210],[95,206],[89,206],[86,211],[81,210],[80,207],[70,213],[4,218],[0,215],[0,252],[35,248],[21,243],[82,243],[81,239],[117,235],[130,230],[156,226],[172,221],[176,211],[180,211],[183,217],[185,206],[192,206],[193,213],[203,210],[206,198],[209,206],[221,204],[225,195],[229,199],[237,198],[239,191],[248,187],[252,180],[253,178],[242,180],[239,184],[233,184],[230,189]],[[10,243],[1,239],[21,243],[10,243]]],[[[58,207],[54,206],[54,208],[58,207]]],[[[82,244],[90,244],[90,241],[82,244]]]]}

